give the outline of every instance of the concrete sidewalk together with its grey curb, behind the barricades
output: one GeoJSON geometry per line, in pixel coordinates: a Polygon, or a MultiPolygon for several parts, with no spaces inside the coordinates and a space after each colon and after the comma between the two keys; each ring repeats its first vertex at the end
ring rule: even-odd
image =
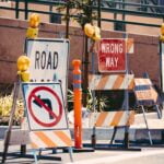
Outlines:
{"type": "MultiPolygon", "coordinates": [[[[149,129],[152,139],[155,141],[164,141],[164,118],[157,119],[156,113],[147,114],[149,129]]],[[[89,121],[86,121],[89,122],[89,121]]],[[[17,129],[19,127],[13,127],[17,129]]],[[[4,132],[8,129],[7,126],[0,126],[0,139],[4,138],[4,132]]],[[[70,128],[73,138],[73,128],[70,128]]],[[[114,132],[114,128],[96,128],[96,139],[97,140],[110,140],[114,132]]],[[[83,125],[83,140],[91,140],[93,129],[89,126],[83,125]]],[[[116,133],[116,140],[124,139],[125,129],[119,128],[116,133]]],[[[131,141],[143,141],[149,140],[147,126],[143,119],[143,114],[136,115],[134,125],[130,126],[129,139],[131,141]]]]}

